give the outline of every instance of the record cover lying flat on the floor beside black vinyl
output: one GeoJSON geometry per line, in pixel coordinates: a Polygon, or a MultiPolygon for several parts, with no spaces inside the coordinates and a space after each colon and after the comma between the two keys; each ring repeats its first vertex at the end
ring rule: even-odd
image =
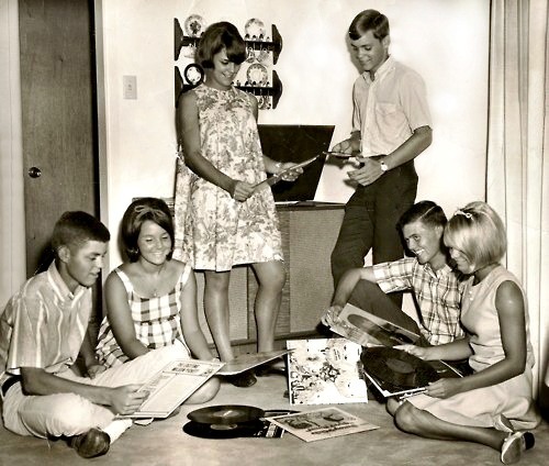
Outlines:
{"type": "Polygon", "coordinates": [[[305,442],[379,429],[379,425],[370,424],[335,407],[266,419],[305,442]]]}

